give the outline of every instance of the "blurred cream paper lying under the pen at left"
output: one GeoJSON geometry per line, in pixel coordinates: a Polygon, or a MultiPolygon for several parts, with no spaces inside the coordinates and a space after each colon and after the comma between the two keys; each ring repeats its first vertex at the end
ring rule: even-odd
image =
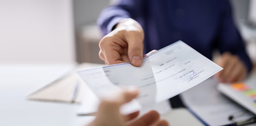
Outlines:
{"type": "Polygon", "coordinates": [[[83,63],[76,65],[72,70],[65,73],[65,75],[56,78],[55,81],[45,85],[44,87],[34,91],[27,98],[29,100],[40,100],[40,101],[55,101],[72,103],[74,100],[76,103],[81,103],[86,97],[87,86],[83,80],[76,74],[77,70],[85,68],[93,68],[103,66],[104,64],[94,63],[83,63]],[[77,96],[72,99],[74,89],[77,82],[79,82],[77,96]]]}

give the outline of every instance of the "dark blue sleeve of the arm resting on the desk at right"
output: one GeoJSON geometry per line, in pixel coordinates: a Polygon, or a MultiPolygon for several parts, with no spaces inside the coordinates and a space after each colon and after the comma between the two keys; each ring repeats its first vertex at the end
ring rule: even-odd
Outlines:
{"type": "Polygon", "coordinates": [[[238,32],[232,17],[232,10],[228,0],[223,0],[221,19],[218,30],[218,49],[221,53],[229,51],[237,54],[247,67],[248,72],[252,69],[252,62],[245,50],[245,44],[238,32]]]}

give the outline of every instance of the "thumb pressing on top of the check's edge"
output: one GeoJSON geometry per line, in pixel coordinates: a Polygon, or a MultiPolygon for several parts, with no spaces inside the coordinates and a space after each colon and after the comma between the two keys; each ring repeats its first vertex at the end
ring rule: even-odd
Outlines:
{"type": "Polygon", "coordinates": [[[143,57],[143,41],[138,42],[136,40],[128,41],[128,58],[132,65],[140,66],[142,64],[143,57]]]}

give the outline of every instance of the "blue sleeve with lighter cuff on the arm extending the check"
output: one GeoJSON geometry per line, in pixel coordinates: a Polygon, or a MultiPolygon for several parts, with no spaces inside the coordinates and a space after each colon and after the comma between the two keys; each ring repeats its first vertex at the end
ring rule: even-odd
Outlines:
{"type": "Polygon", "coordinates": [[[116,5],[104,9],[97,20],[103,35],[110,33],[120,20],[140,16],[141,5],[142,0],[120,0],[116,5]]]}

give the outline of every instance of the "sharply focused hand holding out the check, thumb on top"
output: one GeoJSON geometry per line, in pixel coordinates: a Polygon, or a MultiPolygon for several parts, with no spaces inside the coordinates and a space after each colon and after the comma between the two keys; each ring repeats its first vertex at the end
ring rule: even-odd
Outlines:
{"type": "Polygon", "coordinates": [[[127,18],[105,35],[100,43],[99,57],[107,65],[129,62],[142,64],[144,32],[140,24],[127,18]]]}

